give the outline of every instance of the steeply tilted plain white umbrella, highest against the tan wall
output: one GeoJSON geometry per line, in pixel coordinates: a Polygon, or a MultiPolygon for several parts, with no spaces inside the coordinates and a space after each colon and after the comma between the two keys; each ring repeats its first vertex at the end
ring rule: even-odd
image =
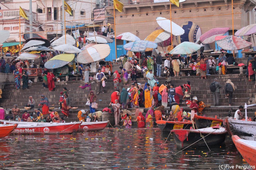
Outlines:
{"type": "MultiPolygon", "coordinates": [[[[157,17],[157,23],[158,25],[163,28],[168,33],[171,33],[171,22],[169,19],[163,18],[163,17],[157,17]]],[[[184,29],[181,28],[176,23],[172,22],[172,34],[175,36],[183,35],[185,33],[184,29]]]]}

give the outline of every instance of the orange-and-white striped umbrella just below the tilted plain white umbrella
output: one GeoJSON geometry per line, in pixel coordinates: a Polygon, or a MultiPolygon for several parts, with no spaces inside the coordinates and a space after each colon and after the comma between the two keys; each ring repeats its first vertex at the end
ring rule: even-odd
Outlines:
{"type": "Polygon", "coordinates": [[[158,29],[153,31],[144,40],[153,41],[155,43],[161,43],[171,37],[171,34],[166,32],[164,29],[158,29]]]}

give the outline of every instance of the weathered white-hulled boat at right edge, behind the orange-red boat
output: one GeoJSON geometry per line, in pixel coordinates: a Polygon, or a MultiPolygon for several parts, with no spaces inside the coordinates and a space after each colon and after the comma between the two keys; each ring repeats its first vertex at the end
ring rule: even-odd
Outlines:
{"type": "Polygon", "coordinates": [[[256,141],[256,122],[226,117],[223,124],[230,136],[237,135],[241,139],[256,141]]]}

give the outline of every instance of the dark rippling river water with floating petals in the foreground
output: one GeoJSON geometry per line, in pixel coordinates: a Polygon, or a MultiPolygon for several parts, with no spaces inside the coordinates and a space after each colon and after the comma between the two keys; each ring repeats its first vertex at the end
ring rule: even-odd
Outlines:
{"type": "Polygon", "coordinates": [[[107,128],[68,135],[10,135],[0,140],[0,169],[219,169],[248,165],[230,137],[221,146],[177,155],[172,135],[159,128],[107,128]],[[16,139],[17,138],[17,139],[16,139]],[[150,141],[149,138],[153,138],[150,141]]]}

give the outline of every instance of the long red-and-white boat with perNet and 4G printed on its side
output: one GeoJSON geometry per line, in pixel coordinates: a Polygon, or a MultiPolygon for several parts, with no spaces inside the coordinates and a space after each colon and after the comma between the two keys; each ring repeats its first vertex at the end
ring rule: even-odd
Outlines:
{"type": "MultiPolygon", "coordinates": [[[[11,121],[12,122],[12,121],[11,121]]],[[[32,123],[15,122],[18,124],[14,134],[67,134],[77,132],[81,122],[71,123],[32,123]]]]}

